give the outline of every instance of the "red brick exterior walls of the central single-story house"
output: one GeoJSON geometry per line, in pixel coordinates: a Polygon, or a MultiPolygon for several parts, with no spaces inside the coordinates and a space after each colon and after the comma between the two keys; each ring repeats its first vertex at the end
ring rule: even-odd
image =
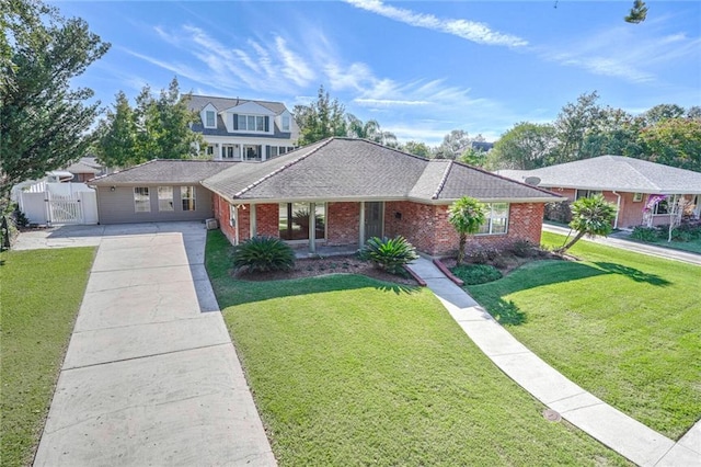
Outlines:
{"type": "MultiPolygon", "coordinates": [[[[275,236],[278,231],[279,209],[277,204],[256,205],[256,227],[258,235],[275,236]]],[[[215,195],[215,216],[231,242],[233,228],[229,226],[229,204],[215,195]]],[[[543,204],[514,203],[509,209],[508,231],[504,235],[470,236],[468,246],[503,247],[515,240],[540,243],[543,204]]],[[[249,239],[251,206],[239,209],[239,239],[249,239]]],[[[359,203],[326,204],[327,246],[357,246],[360,235],[359,203]]],[[[458,234],[448,221],[448,206],[427,205],[407,201],[384,203],[384,236],[405,237],[418,251],[430,255],[455,254],[458,234]],[[400,214],[401,216],[398,216],[400,214]],[[401,218],[400,218],[401,217],[401,218]]]]}

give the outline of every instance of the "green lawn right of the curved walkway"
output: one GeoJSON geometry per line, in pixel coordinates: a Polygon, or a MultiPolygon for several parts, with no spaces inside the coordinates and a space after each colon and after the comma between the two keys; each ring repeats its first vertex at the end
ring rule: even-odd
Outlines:
{"type": "Polygon", "coordinates": [[[530,263],[470,294],[568,378],[680,437],[701,418],[701,267],[588,241],[570,252],[582,261],[530,263]]]}

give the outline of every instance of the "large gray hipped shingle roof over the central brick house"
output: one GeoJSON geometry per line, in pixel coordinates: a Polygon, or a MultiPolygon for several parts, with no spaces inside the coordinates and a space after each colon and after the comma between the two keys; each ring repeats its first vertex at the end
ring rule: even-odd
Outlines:
{"type": "Polygon", "coordinates": [[[418,200],[549,202],[559,196],[455,161],[427,160],[361,139],[332,138],[203,182],[228,200],[418,200]]]}

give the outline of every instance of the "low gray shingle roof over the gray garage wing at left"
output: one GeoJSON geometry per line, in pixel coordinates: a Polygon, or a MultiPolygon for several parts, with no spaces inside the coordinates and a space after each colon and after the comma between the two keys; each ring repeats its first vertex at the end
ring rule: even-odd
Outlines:
{"type": "Polygon", "coordinates": [[[91,185],[199,183],[239,162],[158,159],[90,181],[91,185]]]}

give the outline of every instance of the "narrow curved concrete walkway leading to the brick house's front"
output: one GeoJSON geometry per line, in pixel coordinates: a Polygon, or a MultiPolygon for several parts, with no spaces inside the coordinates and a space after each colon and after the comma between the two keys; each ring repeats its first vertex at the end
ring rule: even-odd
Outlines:
{"type": "Polygon", "coordinates": [[[411,269],[426,281],[450,316],[496,366],[562,418],[641,466],[701,465],[701,422],[675,443],[558,373],[429,260],[421,258],[411,269]]]}

